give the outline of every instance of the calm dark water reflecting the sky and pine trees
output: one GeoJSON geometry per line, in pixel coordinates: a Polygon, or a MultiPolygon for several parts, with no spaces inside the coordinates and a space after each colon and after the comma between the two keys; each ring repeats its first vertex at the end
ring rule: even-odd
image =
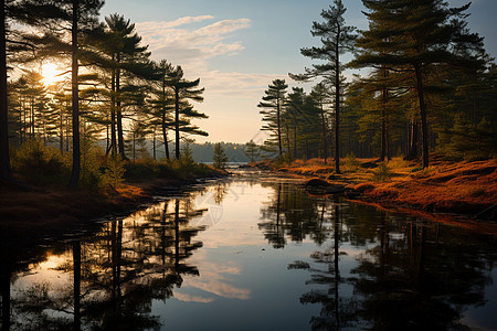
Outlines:
{"type": "Polygon", "coordinates": [[[497,330],[495,235],[277,179],[1,259],[2,330],[497,330]]]}

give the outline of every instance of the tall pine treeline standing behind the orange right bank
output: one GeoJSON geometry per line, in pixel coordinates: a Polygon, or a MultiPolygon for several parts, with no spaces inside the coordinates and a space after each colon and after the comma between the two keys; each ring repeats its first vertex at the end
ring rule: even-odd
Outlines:
{"type": "Polygon", "coordinates": [[[321,12],[300,50],[317,60],[297,82],[318,82],[310,92],[275,79],[258,107],[265,149],[279,159],[339,158],[353,153],[388,161],[393,156],[430,164],[430,152],[452,159],[497,154],[497,65],[483,38],[465,21],[469,4],[440,0],[363,0],[369,29],[343,19],[342,1],[321,12]],[[345,54],[352,61],[343,62],[345,54]],[[368,75],[346,79],[346,68],[368,75]]]}

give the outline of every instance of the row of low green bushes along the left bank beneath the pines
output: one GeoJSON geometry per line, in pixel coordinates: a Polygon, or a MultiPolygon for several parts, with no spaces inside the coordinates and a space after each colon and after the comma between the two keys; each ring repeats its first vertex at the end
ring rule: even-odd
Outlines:
{"type": "MultiPolygon", "coordinates": [[[[117,189],[123,182],[144,182],[163,179],[188,180],[191,178],[219,175],[222,171],[197,163],[188,151],[178,161],[154,159],[114,159],[91,140],[82,140],[80,186],[101,191],[108,185],[117,189]]],[[[62,188],[68,182],[72,153],[61,154],[53,147],[45,147],[41,140],[30,140],[12,152],[14,175],[28,185],[62,188]]]]}

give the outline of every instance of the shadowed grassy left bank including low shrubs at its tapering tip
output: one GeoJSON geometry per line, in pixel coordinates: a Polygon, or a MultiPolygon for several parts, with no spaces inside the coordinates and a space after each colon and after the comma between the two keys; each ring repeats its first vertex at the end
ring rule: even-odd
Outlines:
{"type": "Polygon", "coordinates": [[[179,189],[197,178],[223,175],[199,163],[136,161],[121,166],[123,177],[114,185],[101,181],[98,185],[70,190],[62,180],[43,177],[28,181],[19,173],[19,183],[0,183],[0,239],[36,242],[57,236],[92,218],[128,213],[165,186],[179,189]]]}

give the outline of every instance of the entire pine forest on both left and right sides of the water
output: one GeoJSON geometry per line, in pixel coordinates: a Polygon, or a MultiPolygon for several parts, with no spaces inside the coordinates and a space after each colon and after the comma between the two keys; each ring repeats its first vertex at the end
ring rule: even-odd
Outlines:
{"type": "MultiPolygon", "coordinates": [[[[152,61],[130,19],[115,13],[101,22],[103,4],[3,4],[3,180],[13,170],[27,180],[63,173],[56,181],[72,188],[101,185],[120,178],[129,160],[175,167],[183,148],[192,158],[195,135],[208,136],[192,124],[208,118],[192,104],[203,100],[200,78],[152,61]],[[67,71],[56,73],[56,65],[67,71]]],[[[366,31],[347,24],[342,1],[321,12],[310,31],[320,45],[300,50],[316,63],[289,74],[315,85],[288,89],[285,79],[274,79],[257,105],[269,139],[247,142],[235,161],[332,158],[340,173],[346,156],[421,158],[423,168],[431,152],[452,160],[495,157],[497,66],[484,38],[467,28],[469,4],[363,4],[366,31]],[[350,79],[343,74],[350,68],[368,74],[350,79]]]]}

